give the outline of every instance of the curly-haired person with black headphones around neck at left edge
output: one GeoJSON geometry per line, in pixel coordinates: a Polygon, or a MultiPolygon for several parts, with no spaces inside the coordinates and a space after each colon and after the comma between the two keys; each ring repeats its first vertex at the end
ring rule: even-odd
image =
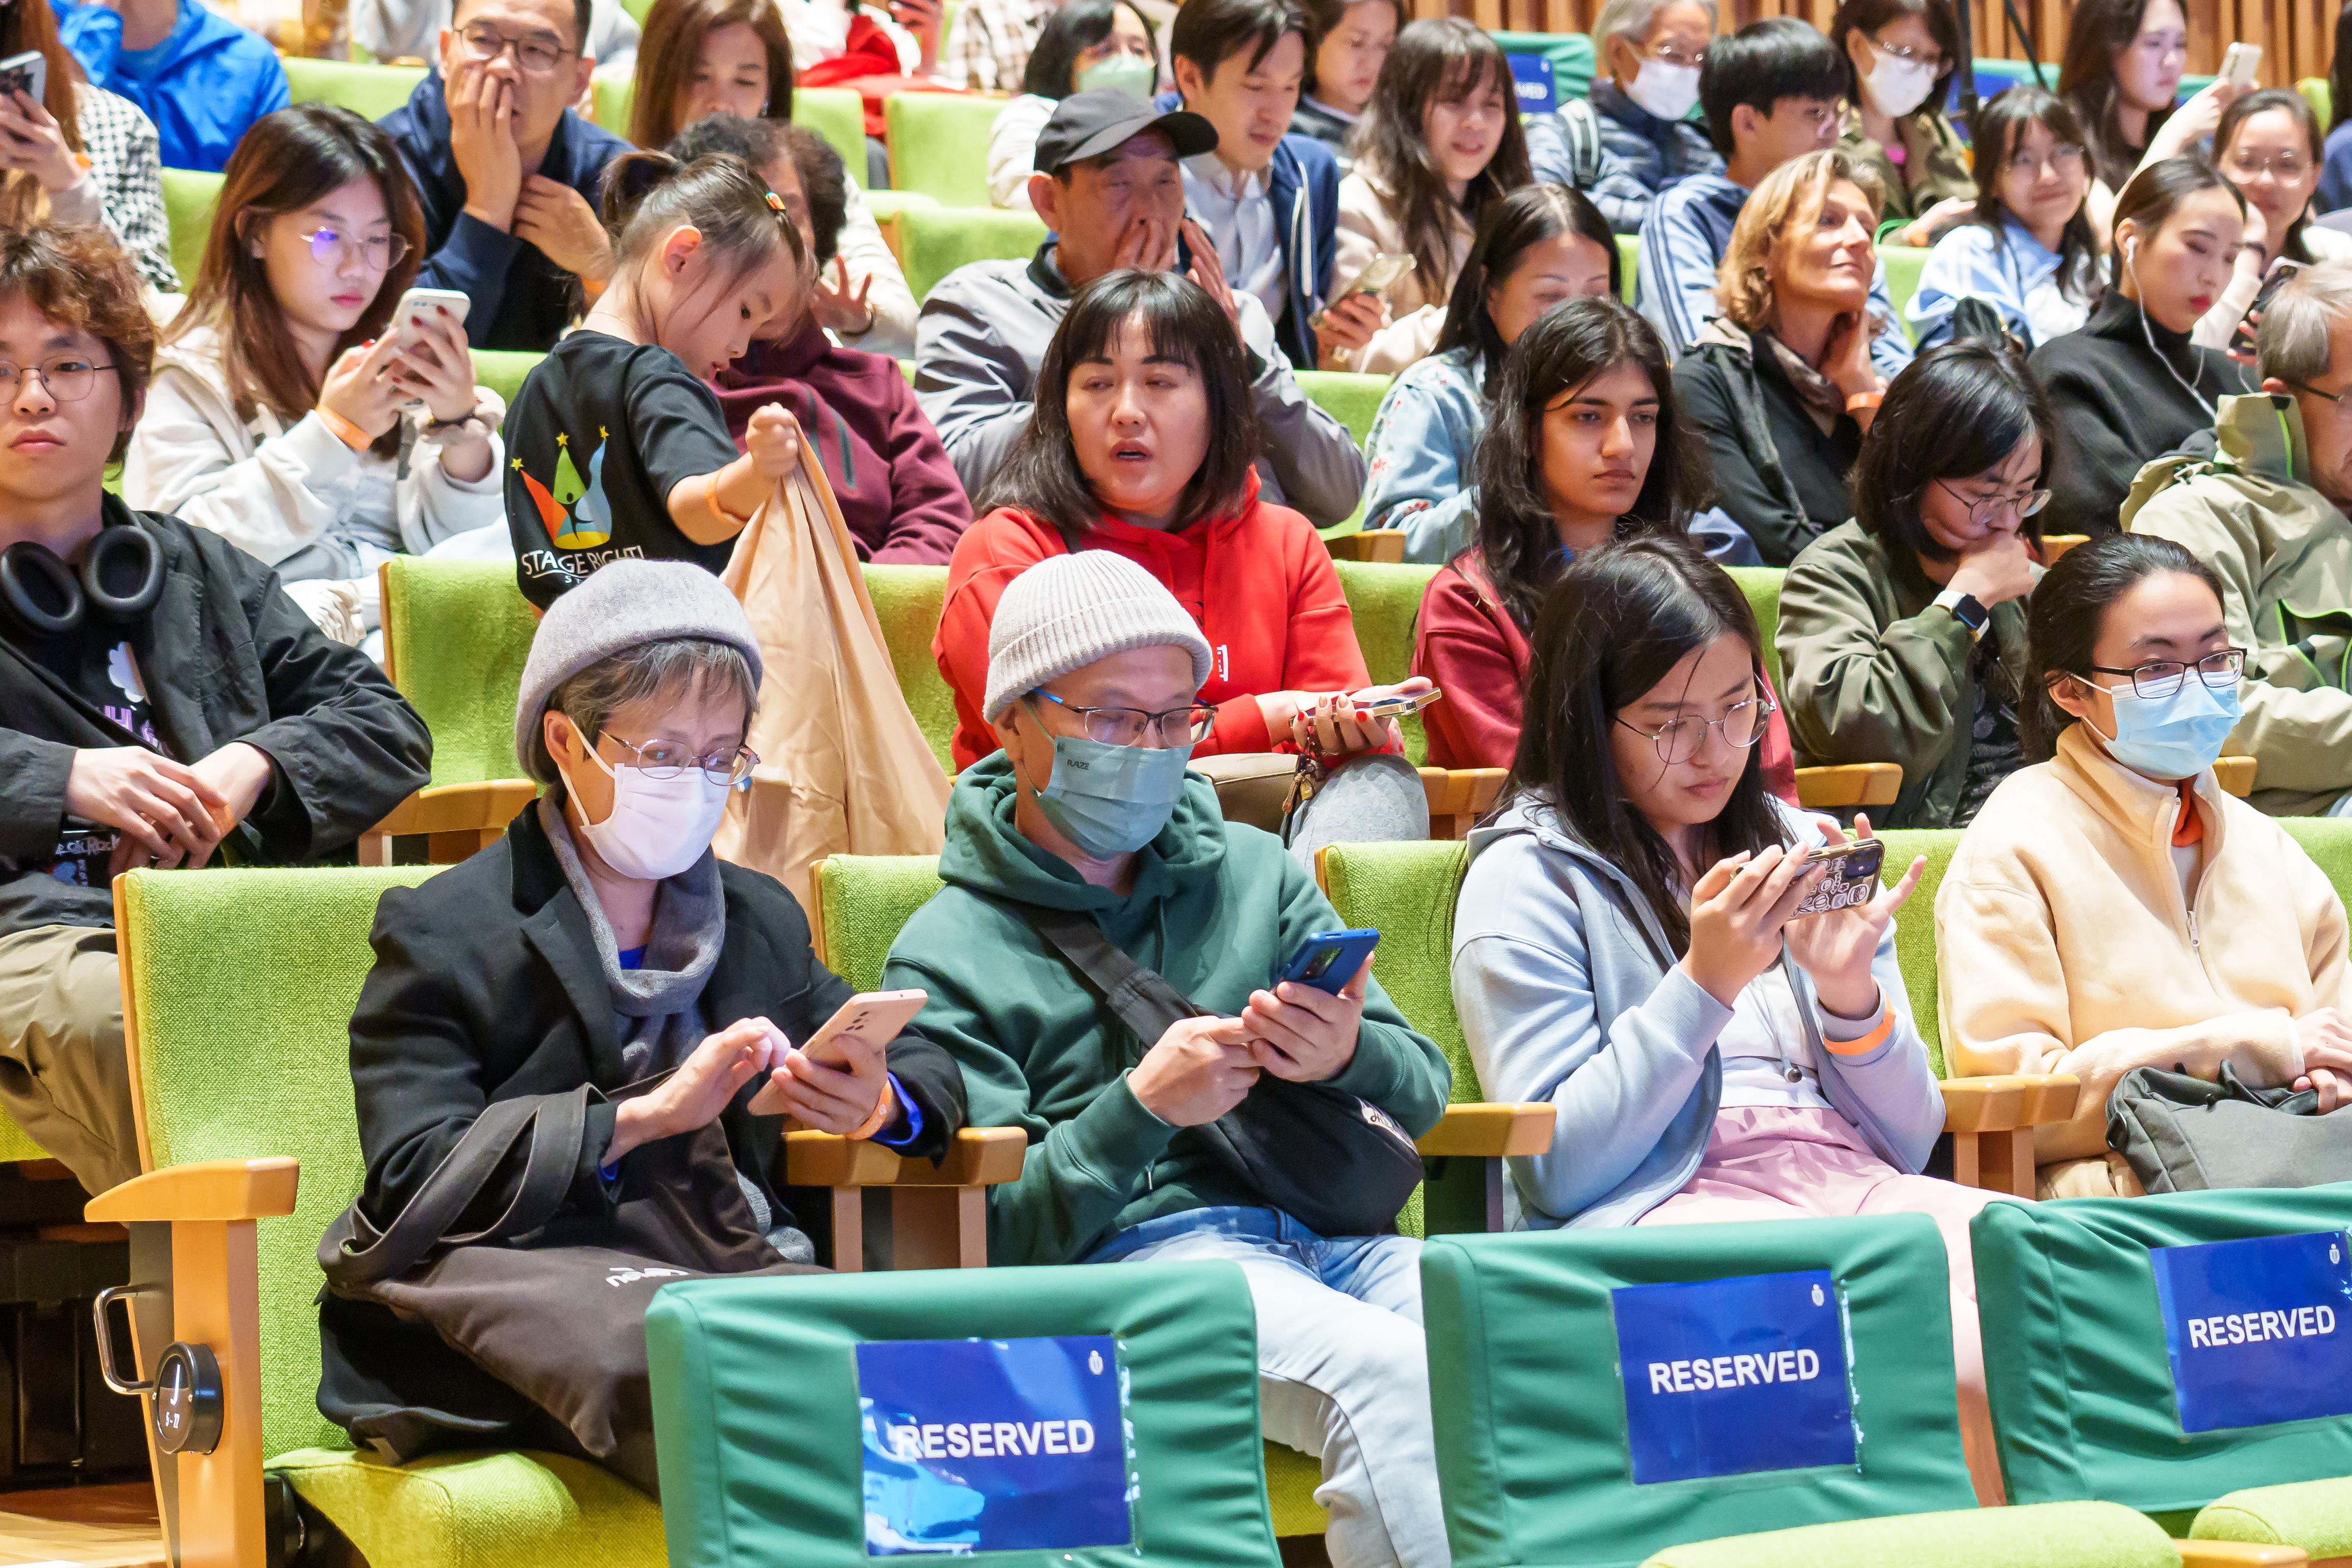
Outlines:
{"type": "Polygon", "coordinates": [[[346,858],[433,764],[268,567],[106,494],[153,362],[103,230],[0,230],[0,1107],[89,1192],[141,1154],[111,879],[346,858]]]}

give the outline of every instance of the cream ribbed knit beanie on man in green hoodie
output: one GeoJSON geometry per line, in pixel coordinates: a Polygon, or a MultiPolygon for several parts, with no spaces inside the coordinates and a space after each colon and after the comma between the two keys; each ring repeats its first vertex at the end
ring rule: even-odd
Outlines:
{"type": "Polygon", "coordinates": [[[1007,708],[1070,670],[1127,649],[1174,644],[1192,656],[1192,686],[1209,679],[1209,639],[1160,581],[1124,555],[1054,555],[1011,581],[988,625],[988,703],[1007,708]]]}

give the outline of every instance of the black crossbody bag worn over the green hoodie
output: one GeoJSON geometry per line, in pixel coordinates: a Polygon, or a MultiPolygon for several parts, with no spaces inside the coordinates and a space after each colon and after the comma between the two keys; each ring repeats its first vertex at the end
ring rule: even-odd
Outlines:
{"type": "MultiPolygon", "coordinates": [[[[1136,1034],[1136,1060],[1178,1018],[1207,1018],[1167,978],[1136,964],[1087,914],[1028,907],[1028,922],[1101,992],[1136,1034]]],[[[1232,1175],[1268,1208],[1317,1237],[1378,1237],[1421,1185],[1421,1150],[1371,1100],[1329,1084],[1294,1084],[1261,1072],[1242,1103],[1200,1133],[1232,1175]]]]}

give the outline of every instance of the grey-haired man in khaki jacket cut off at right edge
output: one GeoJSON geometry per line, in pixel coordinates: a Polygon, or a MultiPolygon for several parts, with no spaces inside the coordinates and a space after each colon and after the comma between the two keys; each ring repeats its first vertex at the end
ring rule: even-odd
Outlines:
{"type": "Polygon", "coordinates": [[[2256,759],[2272,816],[2352,816],[2352,261],[2291,277],[2256,334],[2263,390],[2223,397],[2140,470],[2122,524],[2187,545],[2251,649],[2230,755],[2256,759]]]}

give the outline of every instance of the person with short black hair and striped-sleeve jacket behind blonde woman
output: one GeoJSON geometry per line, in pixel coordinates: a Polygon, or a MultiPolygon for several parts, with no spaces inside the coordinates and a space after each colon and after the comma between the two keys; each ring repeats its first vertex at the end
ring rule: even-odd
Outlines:
{"type": "MultiPolygon", "coordinates": [[[[1642,266],[1635,270],[1635,306],[1675,357],[1689,353],[1710,317],[1724,315],[1715,273],[1731,247],[1740,207],[1766,174],[1837,141],[1846,71],[1830,40],[1795,16],[1750,21],[1708,45],[1698,101],[1708,110],[1708,136],[1726,160],[1724,172],[1691,174],[1658,197],[1642,223],[1642,266]]],[[[1896,322],[1886,268],[1875,252],[1867,315],[1886,327],[1896,322]]],[[[1870,360],[1884,376],[1903,369],[1910,362],[1903,331],[1877,331],[1870,360]]],[[[1755,527],[1748,531],[1755,534],[1755,527]]]]}

